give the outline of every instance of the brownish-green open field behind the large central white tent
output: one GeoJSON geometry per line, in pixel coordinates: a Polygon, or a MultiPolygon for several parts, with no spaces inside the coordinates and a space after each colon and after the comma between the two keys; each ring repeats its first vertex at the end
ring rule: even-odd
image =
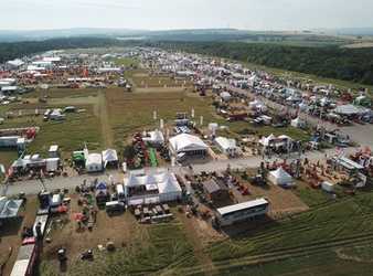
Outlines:
{"type": "Polygon", "coordinates": [[[195,110],[195,118],[204,116],[205,124],[214,120],[212,99],[182,92],[167,93],[124,93],[121,89],[107,89],[106,103],[115,146],[120,147],[129,134],[147,128],[159,127],[159,119],[173,120],[177,113],[195,110]],[[158,119],[153,119],[153,110],[158,119]]]}

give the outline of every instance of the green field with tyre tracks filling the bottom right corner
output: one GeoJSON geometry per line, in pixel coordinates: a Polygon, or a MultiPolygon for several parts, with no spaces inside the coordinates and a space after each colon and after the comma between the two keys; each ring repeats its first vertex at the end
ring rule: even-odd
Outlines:
{"type": "Polygon", "coordinates": [[[231,268],[237,273],[242,269],[237,275],[301,275],[307,270],[309,275],[369,275],[372,208],[371,192],[324,202],[308,212],[212,244],[207,251],[215,267],[222,267],[222,275],[231,268]]]}

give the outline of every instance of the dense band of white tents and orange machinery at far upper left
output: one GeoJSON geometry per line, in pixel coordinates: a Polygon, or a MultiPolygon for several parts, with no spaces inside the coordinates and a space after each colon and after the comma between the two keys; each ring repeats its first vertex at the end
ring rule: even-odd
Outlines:
{"type": "MultiPolygon", "coordinates": [[[[120,56],[127,56],[124,52],[120,56]]],[[[50,51],[0,64],[0,96],[22,93],[29,85],[72,85],[109,82],[110,75],[121,75],[125,66],[117,66],[105,54],[76,54],[50,51]]]]}

